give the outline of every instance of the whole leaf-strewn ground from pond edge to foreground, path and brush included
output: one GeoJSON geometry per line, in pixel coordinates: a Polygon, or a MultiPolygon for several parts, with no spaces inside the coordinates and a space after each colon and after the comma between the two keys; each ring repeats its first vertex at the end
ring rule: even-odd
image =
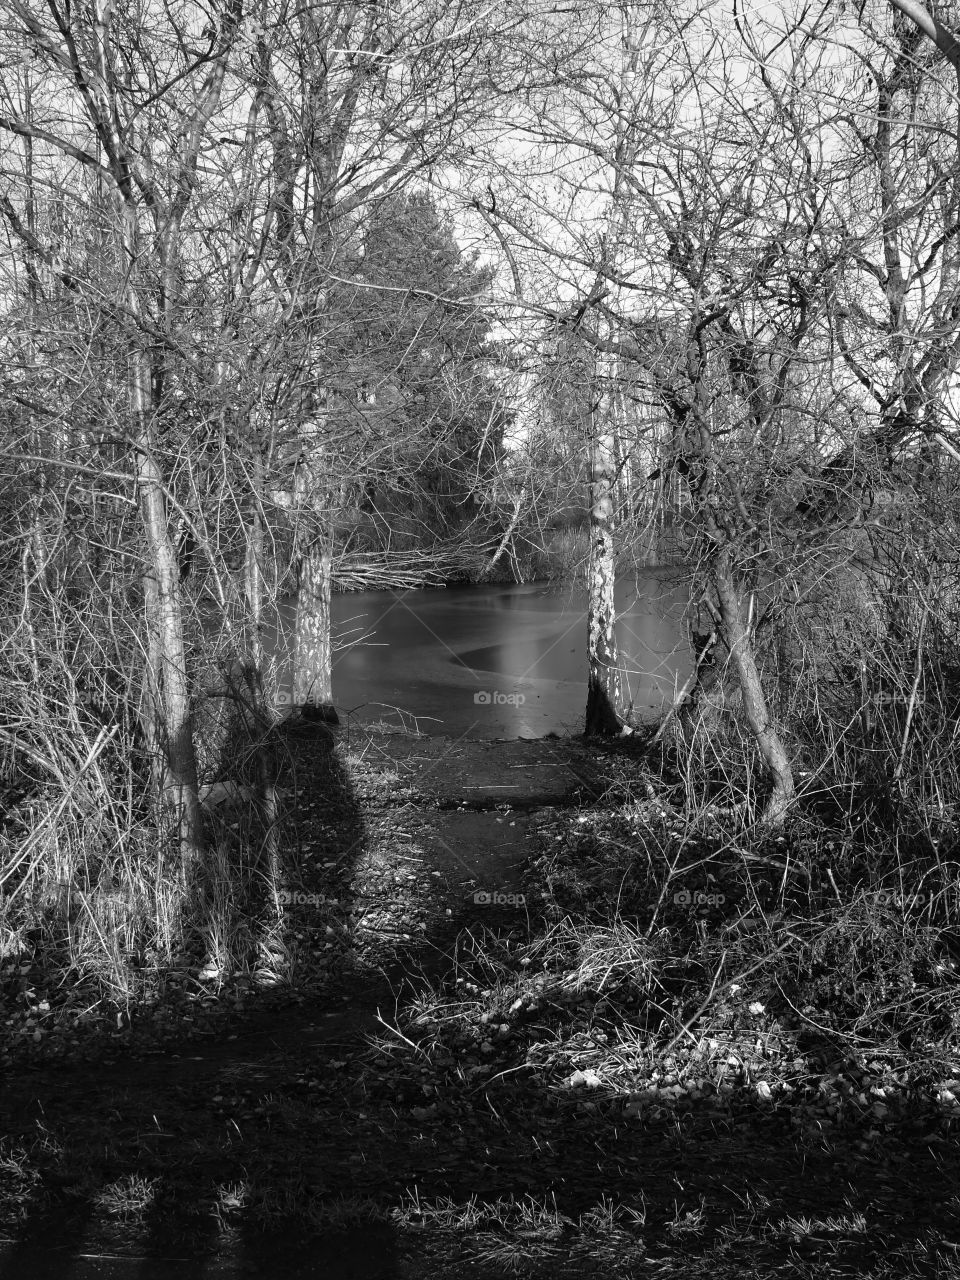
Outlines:
{"type": "Polygon", "coordinates": [[[960,1276],[950,1037],[865,1034],[849,914],[788,984],[803,831],[628,744],[289,748],[291,983],[0,974],[0,1277],[960,1276]]]}

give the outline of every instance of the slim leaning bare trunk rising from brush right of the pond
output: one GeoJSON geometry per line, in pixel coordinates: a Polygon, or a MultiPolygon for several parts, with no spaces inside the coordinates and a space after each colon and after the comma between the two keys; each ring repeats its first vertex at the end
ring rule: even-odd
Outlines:
{"type": "Polygon", "coordinates": [[[744,710],[763,762],[771,774],[773,791],[767,801],[762,822],[767,827],[780,827],[794,799],[794,771],[790,756],[773,724],[763,695],[760,673],[756,669],[753,640],[744,622],[740,596],[733,581],[728,552],[721,550],[713,570],[713,582],[719,602],[723,636],[730,649],[730,660],[737,676],[744,710]]]}

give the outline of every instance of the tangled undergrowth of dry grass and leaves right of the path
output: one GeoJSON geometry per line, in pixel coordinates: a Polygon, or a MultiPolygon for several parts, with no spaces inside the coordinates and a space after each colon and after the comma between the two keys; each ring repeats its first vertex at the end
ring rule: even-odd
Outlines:
{"type": "Polygon", "coordinates": [[[539,849],[541,925],[465,931],[407,1009],[438,1068],[535,1070],[635,1107],[800,1098],[826,1078],[837,1114],[919,1091],[960,1115],[952,854],[803,813],[764,838],[716,810],[691,822],[653,774],[616,808],[544,814],[539,849]]]}

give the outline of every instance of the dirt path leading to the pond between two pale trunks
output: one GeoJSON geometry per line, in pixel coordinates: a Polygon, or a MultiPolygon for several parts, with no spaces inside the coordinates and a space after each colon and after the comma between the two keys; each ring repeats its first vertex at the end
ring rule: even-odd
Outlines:
{"type": "MultiPolygon", "coordinates": [[[[147,1089],[168,1060],[180,1079],[200,1079],[292,1048],[362,1043],[381,1029],[378,1015],[396,1010],[411,975],[443,969],[465,924],[526,919],[517,902],[498,899],[521,891],[538,810],[602,794],[577,740],[454,742],[355,731],[332,754],[332,740],[317,730],[293,745],[289,790],[298,792],[301,847],[289,886],[307,901],[292,901],[288,915],[301,934],[305,993],[251,995],[229,1029],[205,1029],[200,1019],[188,1041],[163,1050],[118,1036],[102,1051],[106,1061],[97,1061],[97,1080],[129,1075],[128,1048],[147,1089]],[[488,900],[477,901],[484,893],[488,900]],[[307,952],[312,943],[330,947],[332,925],[337,964],[317,973],[307,952]]],[[[59,1088],[64,1071],[79,1085],[88,1064],[45,1069],[38,1060],[26,1079],[9,1078],[0,1116],[24,1087],[38,1091],[52,1076],[59,1088]]]]}

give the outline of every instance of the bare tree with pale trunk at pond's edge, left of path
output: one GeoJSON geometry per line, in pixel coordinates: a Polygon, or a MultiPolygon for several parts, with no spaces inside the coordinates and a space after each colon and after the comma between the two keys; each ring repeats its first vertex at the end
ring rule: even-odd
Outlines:
{"type": "Polygon", "coordinates": [[[497,95],[477,54],[497,47],[508,10],[488,6],[483,22],[479,13],[472,3],[406,14],[280,6],[256,35],[250,129],[266,145],[266,198],[244,225],[260,275],[253,360],[274,388],[264,397],[279,445],[273,483],[288,495],[293,530],[293,696],[321,717],[332,714],[334,526],[364,438],[360,415],[346,424],[339,401],[335,297],[372,211],[453,163],[497,95]]]}

